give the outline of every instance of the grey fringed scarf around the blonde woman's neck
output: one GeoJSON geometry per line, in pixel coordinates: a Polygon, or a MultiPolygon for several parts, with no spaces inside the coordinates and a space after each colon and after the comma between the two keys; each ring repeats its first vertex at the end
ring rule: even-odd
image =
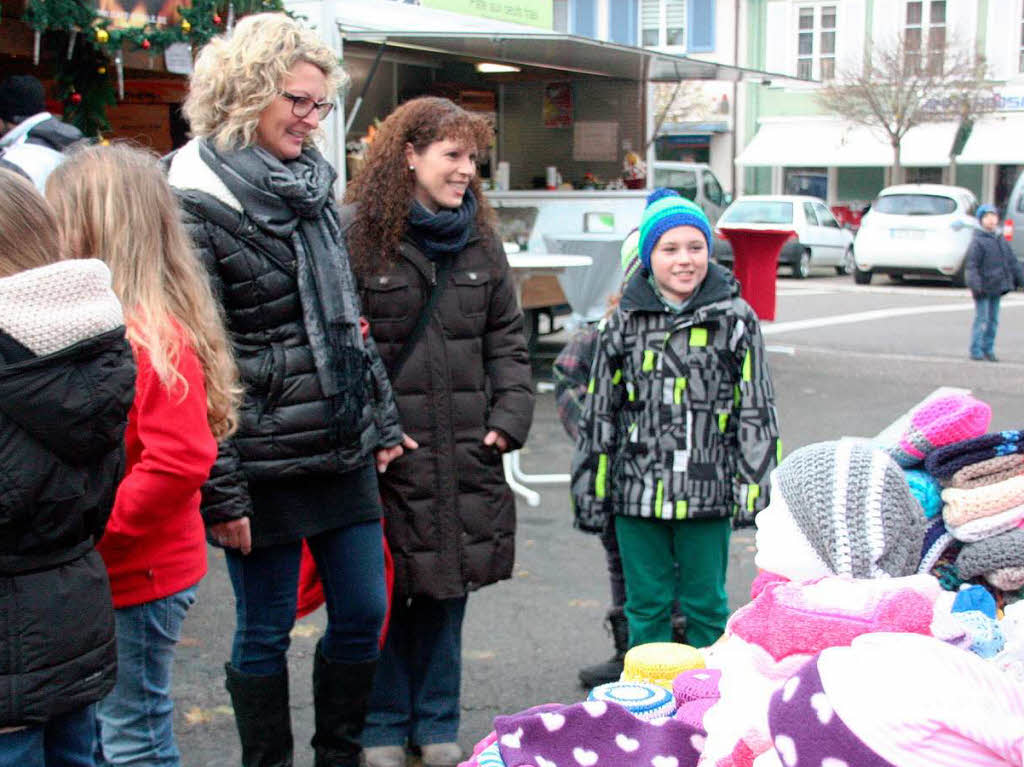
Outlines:
{"type": "Polygon", "coordinates": [[[331,426],[341,443],[356,437],[367,403],[367,356],[334,202],[334,168],[311,146],[282,162],[259,146],[223,152],[201,140],[200,157],[260,229],[291,242],[316,375],[335,400],[331,426]]]}

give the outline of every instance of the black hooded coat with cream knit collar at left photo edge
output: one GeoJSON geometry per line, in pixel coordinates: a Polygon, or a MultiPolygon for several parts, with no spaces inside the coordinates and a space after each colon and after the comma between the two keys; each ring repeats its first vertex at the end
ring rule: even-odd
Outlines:
{"type": "Polygon", "coordinates": [[[124,328],[35,356],[0,333],[0,727],[103,697],[114,607],[93,548],[124,471],[124,328]]]}

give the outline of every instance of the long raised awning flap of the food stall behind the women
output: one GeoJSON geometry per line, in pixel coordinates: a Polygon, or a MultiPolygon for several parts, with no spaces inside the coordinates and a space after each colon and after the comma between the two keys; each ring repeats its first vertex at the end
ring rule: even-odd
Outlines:
{"type": "Polygon", "coordinates": [[[639,82],[679,80],[790,79],[742,67],[703,61],[648,48],[607,43],[586,37],[537,30],[530,32],[416,31],[347,29],[338,22],[345,42],[429,51],[469,61],[494,61],[519,67],[639,82]]]}

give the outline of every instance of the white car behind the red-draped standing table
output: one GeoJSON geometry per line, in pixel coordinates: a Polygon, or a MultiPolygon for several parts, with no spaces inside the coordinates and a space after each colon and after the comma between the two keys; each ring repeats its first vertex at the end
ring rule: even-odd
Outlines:
{"type": "Polygon", "coordinates": [[[796,237],[782,246],[779,266],[804,279],[815,266],[834,266],[840,274],[853,269],[853,235],[843,228],[816,197],[749,195],[733,202],[718,225],[761,229],[793,229],[796,237]]]}

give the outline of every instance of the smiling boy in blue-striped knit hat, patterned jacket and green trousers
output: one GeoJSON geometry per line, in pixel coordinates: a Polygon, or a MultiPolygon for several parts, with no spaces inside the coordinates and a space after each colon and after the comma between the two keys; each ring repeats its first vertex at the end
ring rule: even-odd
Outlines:
{"type": "Polygon", "coordinates": [[[779,452],[757,315],[711,242],[697,206],[651,194],[584,402],[573,503],[578,519],[613,515],[632,646],[672,639],[677,597],[687,642],[721,636],[731,522],[764,507],[779,452]]]}

